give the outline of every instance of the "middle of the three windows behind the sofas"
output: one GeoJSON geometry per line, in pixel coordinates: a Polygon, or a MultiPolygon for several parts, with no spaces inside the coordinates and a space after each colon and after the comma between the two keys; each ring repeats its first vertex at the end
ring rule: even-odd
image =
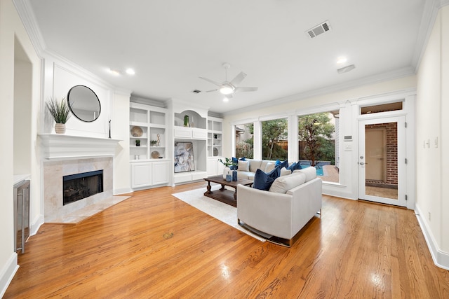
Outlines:
{"type": "Polygon", "coordinates": [[[288,155],[287,118],[262,121],[262,159],[286,160],[288,155]]]}

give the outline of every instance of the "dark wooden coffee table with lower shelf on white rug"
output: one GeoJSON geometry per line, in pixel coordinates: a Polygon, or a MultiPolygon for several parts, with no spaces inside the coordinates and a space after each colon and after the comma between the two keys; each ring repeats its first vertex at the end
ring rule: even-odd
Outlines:
{"type": "Polygon", "coordinates": [[[244,186],[253,186],[253,181],[248,179],[238,179],[237,181],[226,181],[223,179],[223,176],[209,176],[208,178],[204,179],[204,181],[208,182],[208,190],[204,193],[204,196],[213,198],[214,200],[218,200],[220,202],[225,202],[225,204],[229,204],[232,207],[237,207],[237,185],[244,185],[244,186]],[[212,183],[219,183],[222,188],[216,191],[210,191],[210,182],[212,183]],[[225,186],[229,186],[234,188],[234,192],[232,190],[227,190],[225,186]]]}

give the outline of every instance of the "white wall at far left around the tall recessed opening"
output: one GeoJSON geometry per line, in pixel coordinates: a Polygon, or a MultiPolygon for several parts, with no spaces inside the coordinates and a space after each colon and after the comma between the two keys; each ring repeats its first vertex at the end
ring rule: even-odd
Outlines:
{"type": "MultiPolygon", "coordinates": [[[[11,281],[17,269],[17,255],[13,249],[13,115],[14,115],[14,61],[15,40],[20,42],[29,61],[32,63],[32,90],[30,111],[32,127],[28,130],[30,144],[31,167],[31,199],[32,209],[30,213],[35,218],[40,210],[40,171],[39,171],[39,146],[36,145],[36,130],[39,123],[39,97],[40,97],[40,59],[27,36],[27,32],[15,11],[11,0],[0,1],[0,165],[1,179],[0,192],[3,200],[0,200],[0,295],[4,293],[9,281],[11,281]],[[36,211],[37,210],[37,211],[36,211]]],[[[33,221],[33,218],[32,218],[33,221]]]]}

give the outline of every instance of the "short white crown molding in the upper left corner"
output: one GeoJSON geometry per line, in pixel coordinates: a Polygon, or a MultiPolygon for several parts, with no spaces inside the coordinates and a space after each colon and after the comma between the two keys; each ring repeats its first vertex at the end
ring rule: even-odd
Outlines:
{"type": "Polygon", "coordinates": [[[22,20],[22,24],[27,31],[32,45],[34,46],[34,50],[36,50],[37,55],[42,57],[43,50],[45,50],[47,46],[43,40],[41,29],[39,29],[39,26],[37,25],[36,17],[29,4],[29,0],[13,0],[13,4],[20,20],[22,20]]]}

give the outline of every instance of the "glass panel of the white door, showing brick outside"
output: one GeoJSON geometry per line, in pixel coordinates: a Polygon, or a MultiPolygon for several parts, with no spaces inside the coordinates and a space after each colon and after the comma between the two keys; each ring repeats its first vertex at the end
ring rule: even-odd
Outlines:
{"type": "Polygon", "coordinates": [[[365,125],[366,195],[398,199],[398,125],[365,125]]]}

